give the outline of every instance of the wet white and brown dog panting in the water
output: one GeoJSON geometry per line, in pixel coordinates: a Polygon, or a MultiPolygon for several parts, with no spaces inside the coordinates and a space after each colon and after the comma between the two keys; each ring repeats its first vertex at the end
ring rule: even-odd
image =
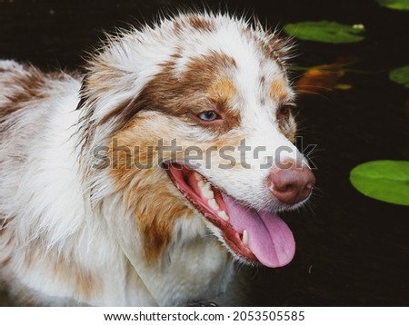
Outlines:
{"type": "Polygon", "coordinates": [[[15,303],[217,302],[235,265],[289,263],[276,212],[315,182],[294,146],[292,47],[256,21],[181,13],[107,36],[81,74],[0,61],[0,279],[15,303]]]}

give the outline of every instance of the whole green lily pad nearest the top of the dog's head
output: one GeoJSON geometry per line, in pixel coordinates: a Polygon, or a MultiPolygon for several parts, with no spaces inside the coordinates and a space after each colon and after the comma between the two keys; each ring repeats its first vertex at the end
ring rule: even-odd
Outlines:
{"type": "Polygon", "coordinates": [[[364,40],[364,25],[342,25],[335,22],[301,22],[284,25],[284,32],[304,41],[354,43],[364,40]]]}

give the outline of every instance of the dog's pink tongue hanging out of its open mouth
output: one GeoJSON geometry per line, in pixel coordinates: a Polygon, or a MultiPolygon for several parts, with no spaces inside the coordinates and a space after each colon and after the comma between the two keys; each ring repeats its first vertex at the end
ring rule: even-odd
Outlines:
{"type": "Polygon", "coordinates": [[[256,212],[223,194],[223,199],[235,231],[248,233],[248,248],[270,268],[293,260],[295,241],[290,228],[274,213],[256,212]]]}

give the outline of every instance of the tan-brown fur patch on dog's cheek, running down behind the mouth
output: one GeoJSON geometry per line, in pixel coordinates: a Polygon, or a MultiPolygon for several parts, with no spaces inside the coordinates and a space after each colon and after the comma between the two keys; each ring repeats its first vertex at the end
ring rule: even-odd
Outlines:
{"type": "Polygon", "coordinates": [[[170,241],[176,220],[181,216],[190,217],[193,212],[176,196],[178,193],[175,194],[173,184],[173,191],[168,189],[169,177],[165,170],[155,165],[156,151],[147,150],[148,147],[154,148],[160,138],[159,134],[146,130],[152,125],[148,120],[135,118],[126,129],[115,133],[117,142],[115,146],[111,143],[109,152],[114,157],[111,173],[118,191],[124,192],[126,207],[135,208],[135,224],[143,236],[146,261],[154,262],[170,241]],[[140,137],[141,133],[145,134],[144,137],[140,137]],[[135,145],[140,148],[138,156],[135,155],[135,145]],[[152,163],[153,167],[140,169],[136,162],[152,163]]]}

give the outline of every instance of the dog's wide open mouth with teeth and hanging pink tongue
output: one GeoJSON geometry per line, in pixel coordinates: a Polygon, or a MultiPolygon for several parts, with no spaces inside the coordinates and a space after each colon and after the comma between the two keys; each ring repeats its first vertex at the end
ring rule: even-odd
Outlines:
{"type": "Polygon", "coordinates": [[[293,233],[276,214],[237,202],[184,164],[172,162],[167,167],[176,188],[222,231],[225,243],[238,257],[271,268],[293,260],[293,233]]]}

